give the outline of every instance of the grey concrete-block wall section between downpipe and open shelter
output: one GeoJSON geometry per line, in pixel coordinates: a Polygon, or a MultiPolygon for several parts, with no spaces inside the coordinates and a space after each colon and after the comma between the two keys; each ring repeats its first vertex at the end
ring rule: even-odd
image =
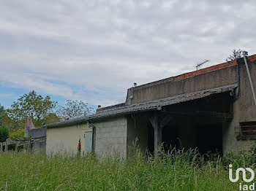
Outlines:
{"type": "Polygon", "coordinates": [[[127,157],[127,118],[111,117],[92,122],[96,128],[95,153],[99,157],[127,157]]]}

